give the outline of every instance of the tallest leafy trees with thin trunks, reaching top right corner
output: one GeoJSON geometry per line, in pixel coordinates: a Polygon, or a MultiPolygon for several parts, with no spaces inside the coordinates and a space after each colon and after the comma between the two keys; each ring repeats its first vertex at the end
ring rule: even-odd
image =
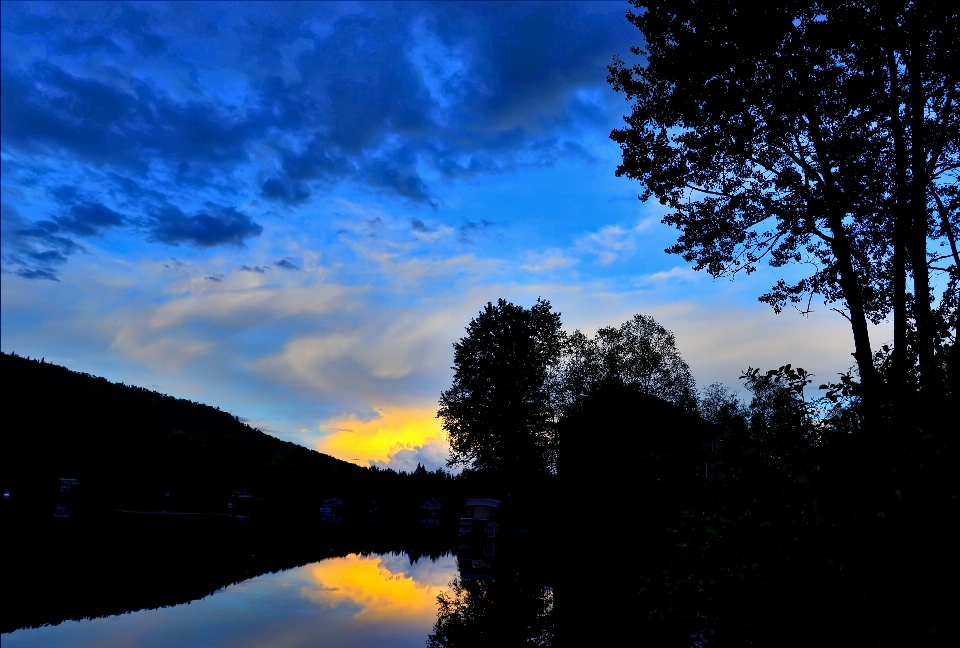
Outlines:
{"type": "Polygon", "coordinates": [[[839,305],[866,385],[868,323],[893,310],[897,357],[915,328],[922,380],[936,382],[937,344],[956,340],[960,13],[855,0],[632,4],[645,38],[632,51],[645,63],[610,67],[633,102],[611,137],[617,175],[670,209],[664,222],[680,236],[668,251],[714,276],[763,259],[795,266],[760,300],[777,312],[809,310],[815,294],[839,305]],[[931,252],[947,243],[950,253],[931,252]],[[931,271],[948,277],[936,309],[931,271]]]}

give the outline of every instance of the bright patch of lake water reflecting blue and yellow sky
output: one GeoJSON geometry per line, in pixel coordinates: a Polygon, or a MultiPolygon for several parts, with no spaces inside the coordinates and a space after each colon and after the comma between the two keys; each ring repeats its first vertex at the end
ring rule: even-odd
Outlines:
{"type": "Polygon", "coordinates": [[[14,646],[423,646],[456,559],[351,554],[232,585],[201,600],[3,635],[14,646]]]}

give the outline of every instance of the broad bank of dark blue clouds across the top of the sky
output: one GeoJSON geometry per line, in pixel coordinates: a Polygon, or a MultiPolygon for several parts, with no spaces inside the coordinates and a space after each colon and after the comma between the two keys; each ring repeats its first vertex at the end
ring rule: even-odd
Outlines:
{"type": "Polygon", "coordinates": [[[570,133],[609,115],[605,66],[637,39],[623,13],[619,3],[5,5],[3,150],[101,178],[86,197],[60,198],[65,211],[47,221],[58,230],[27,225],[36,232],[18,240],[63,258],[78,245],[68,234],[116,227],[170,245],[242,245],[262,231],[250,216],[184,196],[294,207],[348,182],[437,208],[427,177],[586,158],[570,133]],[[258,196],[246,195],[253,179],[258,196]]]}

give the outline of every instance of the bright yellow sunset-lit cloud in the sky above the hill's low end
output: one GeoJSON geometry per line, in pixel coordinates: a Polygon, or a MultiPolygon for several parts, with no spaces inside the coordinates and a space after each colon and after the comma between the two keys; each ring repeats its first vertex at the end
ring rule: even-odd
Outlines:
{"type": "Polygon", "coordinates": [[[363,421],[355,415],[331,419],[320,426],[327,432],[317,450],[344,461],[367,466],[370,461],[387,461],[391,451],[422,446],[428,440],[445,441],[435,407],[387,408],[379,416],[363,421]]]}

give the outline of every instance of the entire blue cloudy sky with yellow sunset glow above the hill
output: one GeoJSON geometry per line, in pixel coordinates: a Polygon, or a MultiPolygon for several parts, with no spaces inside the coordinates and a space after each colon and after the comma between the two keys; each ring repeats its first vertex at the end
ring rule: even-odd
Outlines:
{"type": "Polygon", "coordinates": [[[0,347],[398,470],[444,465],[452,345],[498,298],[651,315],[700,386],[835,379],[840,315],[694,272],[616,177],[627,9],[3,2],[0,347]]]}

